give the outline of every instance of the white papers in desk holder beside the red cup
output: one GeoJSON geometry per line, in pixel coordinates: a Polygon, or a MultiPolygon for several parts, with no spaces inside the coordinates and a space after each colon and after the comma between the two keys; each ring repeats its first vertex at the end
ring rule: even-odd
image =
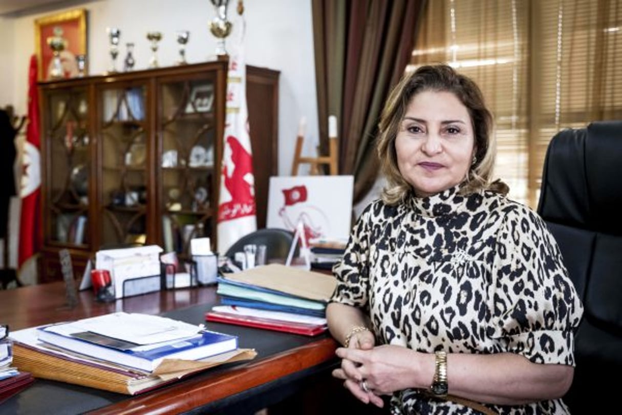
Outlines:
{"type": "Polygon", "coordinates": [[[95,268],[108,269],[116,299],[160,290],[160,253],[157,245],[104,249],[95,254],[95,268]]]}

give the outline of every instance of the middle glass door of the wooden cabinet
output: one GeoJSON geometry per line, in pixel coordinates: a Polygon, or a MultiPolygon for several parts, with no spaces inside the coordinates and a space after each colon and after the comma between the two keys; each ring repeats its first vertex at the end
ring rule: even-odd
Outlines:
{"type": "Polygon", "coordinates": [[[149,190],[146,86],[106,86],[98,91],[98,102],[102,201],[99,245],[144,244],[149,190]]]}

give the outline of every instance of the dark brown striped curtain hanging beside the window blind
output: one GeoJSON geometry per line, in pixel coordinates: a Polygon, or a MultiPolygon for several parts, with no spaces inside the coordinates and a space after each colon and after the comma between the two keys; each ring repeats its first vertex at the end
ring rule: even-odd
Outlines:
{"type": "Polygon", "coordinates": [[[358,202],[378,175],[376,128],[389,90],[411,60],[426,0],[312,0],[320,151],[338,120],[339,172],[358,202]]]}

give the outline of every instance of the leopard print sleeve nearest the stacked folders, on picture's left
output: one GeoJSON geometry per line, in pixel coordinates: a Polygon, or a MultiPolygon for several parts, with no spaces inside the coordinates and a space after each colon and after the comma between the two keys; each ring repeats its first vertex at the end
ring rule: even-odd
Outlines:
{"type": "Polygon", "coordinates": [[[350,233],[350,240],[346,246],[341,261],[333,267],[333,274],[337,277],[337,287],[331,302],[366,307],[369,301],[369,236],[373,206],[371,203],[350,233]]]}

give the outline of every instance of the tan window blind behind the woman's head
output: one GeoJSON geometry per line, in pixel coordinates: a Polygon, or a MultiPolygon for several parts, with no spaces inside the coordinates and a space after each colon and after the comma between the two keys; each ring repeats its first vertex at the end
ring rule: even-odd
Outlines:
{"type": "Polygon", "coordinates": [[[430,1],[407,70],[447,62],[480,85],[494,176],[535,208],[552,136],[622,119],[621,14],[622,0],[430,1]]]}

